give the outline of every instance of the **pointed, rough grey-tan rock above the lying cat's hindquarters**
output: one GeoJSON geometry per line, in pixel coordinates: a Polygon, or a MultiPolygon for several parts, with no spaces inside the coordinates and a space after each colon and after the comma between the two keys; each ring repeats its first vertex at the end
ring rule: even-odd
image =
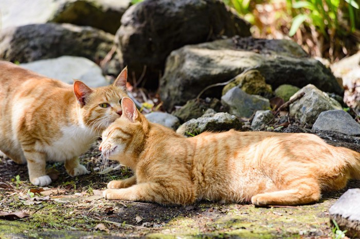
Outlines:
{"type": "Polygon", "coordinates": [[[313,124],[323,111],[343,109],[339,102],[330,98],[325,92],[322,92],[312,84],[297,91],[290,99],[295,98],[301,93],[305,93],[305,95],[290,105],[290,116],[294,117],[301,124],[313,124]]]}

